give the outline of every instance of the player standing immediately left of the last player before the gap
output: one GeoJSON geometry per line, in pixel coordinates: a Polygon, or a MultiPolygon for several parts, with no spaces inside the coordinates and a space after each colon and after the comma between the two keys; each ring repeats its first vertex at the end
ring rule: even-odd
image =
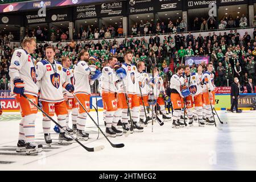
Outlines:
{"type": "MultiPolygon", "coordinates": [[[[144,111],[144,107],[148,107],[148,92],[150,90],[150,88],[148,87],[148,83],[149,83],[149,77],[147,73],[143,73],[143,71],[145,70],[145,64],[144,62],[140,61],[137,64],[137,68],[138,68],[138,74],[145,77],[144,82],[138,82],[138,90],[137,90],[137,94],[138,94],[138,98],[139,98],[139,103],[141,104],[141,108],[140,108],[140,112],[139,112],[139,121],[141,123],[144,123],[144,120],[146,119],[146,115],[145,115],[145,111],[144,111]],[[139,86],[141,87],[141,90],[139,89],[139,86]],[[141,97],[142,94],[142,97],[141,97]],[[143,106],[143,102],[144,102],[144,106],[143,106]]],[[[147,120],[151,120],[152,118],[150,118],[149,116],[147,117],[147,120]]]]}

